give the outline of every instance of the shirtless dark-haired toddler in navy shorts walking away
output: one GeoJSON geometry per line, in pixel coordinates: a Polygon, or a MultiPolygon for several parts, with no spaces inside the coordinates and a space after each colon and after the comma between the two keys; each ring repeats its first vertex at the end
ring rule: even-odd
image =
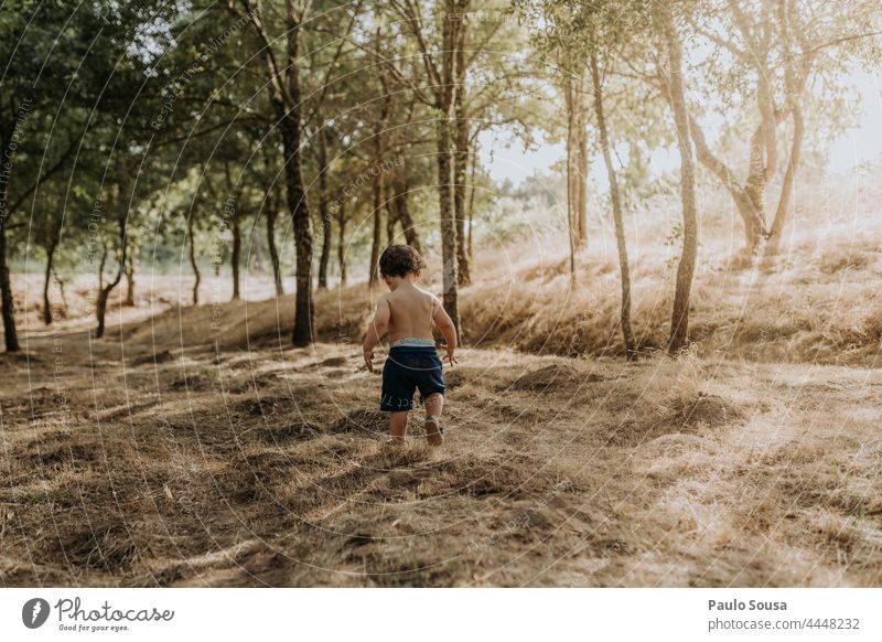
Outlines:
{"type": "Polygon", "coordinates": [[[367,327],[364,342],[365,363],[374,372],[374,347],[384,334],[389,336],[389,354],[383,367],[383,394],[379,408],[390,413],[392,441],[402,442],[408,411],[413,407],[413,392],[419,389],[426,406],[426,438],[430,446],[444,441],[440,417],[444,407],[444,375],[434,345],[432,323],[447,345],[444,359],[456,359],[456,329],[441,301],[417,287],[426,263],[408,245],[391,245],[379,257],[379,272],[389,293],[377,301],[377,311],[367,327]]]}

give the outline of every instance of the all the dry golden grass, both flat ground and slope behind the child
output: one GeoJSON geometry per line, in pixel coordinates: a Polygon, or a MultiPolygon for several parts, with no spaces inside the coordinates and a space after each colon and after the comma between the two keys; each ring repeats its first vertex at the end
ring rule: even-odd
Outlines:
{"type": "Polygon", "coordinates": [[[381,443],[365,286],[318,295],[306,350],[289,297],[180,307],[158,279],[101,341],[26,311],[28,353],[0,355],[0,582],[879,586],[878,222],[797,217],[761,272],[706,238],[677,361],[653,226],[636,363],[609,231],[574,285],[552,239],[481,257],[440,456],[419,413],[381,443]]]}

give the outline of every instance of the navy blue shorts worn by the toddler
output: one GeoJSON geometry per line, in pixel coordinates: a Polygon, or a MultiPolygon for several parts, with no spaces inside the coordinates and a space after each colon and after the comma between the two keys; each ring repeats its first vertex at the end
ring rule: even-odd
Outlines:
{"type": "Polygon", "coordinates": [[[389,350],[383,366],[383,394],[379,409],[386,413],[410,410],[413,392],[420,404],[431,394],[444,394],[444,373],[433,345],[397,345],[389,350]]]}

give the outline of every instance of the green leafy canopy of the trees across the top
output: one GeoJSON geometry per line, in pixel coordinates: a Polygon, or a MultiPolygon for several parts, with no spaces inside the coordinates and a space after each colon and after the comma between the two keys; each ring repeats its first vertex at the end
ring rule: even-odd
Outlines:
{"type": "MultiPolygon", "coordinates": [[[[854,101],[841,78],[875,69],[880,57],[878,3],[860,0],[847,12],[831,2],[794,3],[793,51],[774,31],[779,3],[736,3],[755,35],[770,30],[765,67],[775,103],[784,109],[787,56],[811,53],[806,128],[818,156],[853,122],[854,101]],[[873,34],[876,34],[875,36],[873,34]]],[[[736,52],[750,49],[728,0],[670,4],[684,36],[690,106],[701,119],[719,118],[714,142],[730,164],[746,159],[757,121],[756,65],[736,52]]],[[[0,143],[14,147],[4,184],[4,232],[10,248],[44,256],[58,243],[58,265],[96,269],[103,247],[111,257],[130,242],[139,257],[182,260],[189,228],[200,260],[213,250],[223,204],[236,194],[236,216],[266,249],[262,224],[271,208],[284,213],[281,179],[288,159],[277,128],[279,113],[267,90],[266,46],[245,7],[229,3],[10,0],[0,7],[0,143]],[[144,253],[151,253],[150,256],[144,253]]],[[[284,4],[261,2],[269,46],[284,60],[284,4]]],[[[614,160],[625,204],[670,188],[650,172],[654,150],[673,145],[667,109],[654,84],[660,61],[654,38],[655,3],[642,0],[493,0],[448,15],[443,2],[355,3],[315,1],[302,25],[304,180],[314,229],[320,203],[348,217],[346,245],[355,260],[367,255],[370,185],[359,180],[376,163],[373,142],[381,125],[387,159],[402,159],[384,176],[406,179],[411,214],[431,248],[426,223],[437,220],[433,79],[417,38],[402,20],[420,17],[428,55],[440,53],[444,20],[467,29],[464,92],[472,146],[498,133],[525,146],[566,135],[562,77],[584,71],[599,54],[614,160]],[[429,98],[427,98],[429,97],[429,98]],[[386,121],[378,125],[388,100],[386,121]],[[318,153],[324,137],[326,158],[318,153]],[[345,201],[345,203],[344,203],[345,201]],[[344,207],[345,206],[345,207],[344,207]]],[[[717,125],[717,122],[714,122],[717,125]]],[[[590,141],[595,146],[589,124],[590,141]]],[[[779,137],[784,154],[787,138],[779,137]]],[[[551,182],[551,178],[548,179],[551,182]]],[[[495,235],[519,228],[526,207],[559,203],[537,185],[506,193],[486,169],[474,171],[474,207],[495,235]],[[525,194],[529,193],[529,197],[525,194]],[[526,199],[526,200],[525,200],[526,199]]],[[[555,184],[553,190],[560,185],[555,184]]],[[[385,201],[384,194],[384,201],[385,201]]],[[[279,236],[290,234],[279,218],[279,236]]],[[[334,218],[333,231],[340,221],[334,218]]],[[[316,242],[319,239],[316,238],[316,242]]],[[[282,261],[291,265],[290,250],[282,261]]],[[[116,270],[111,260],[108,272],[116,270]]]]}

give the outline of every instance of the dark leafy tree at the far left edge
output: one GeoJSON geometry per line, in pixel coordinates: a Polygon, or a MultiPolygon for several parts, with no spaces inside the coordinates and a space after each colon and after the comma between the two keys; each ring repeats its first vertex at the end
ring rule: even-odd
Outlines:
{"type": "Polygon", "coordinates": [[[20,350],[9,272],[10,232],[26,227],[23,217],[33,213],[41,183],[69,168],[79,147],[84,106],[96,95],[95,74],[77,74],[80,61],[87,52],[116,60],[111,43],[115,38],[125,42],[131,25],[110,20],[105,38],[98,38],[99,9],[71,14],[60,3],[11,0],[0,6],[0,60],[7,69],[0,77],[0,309],[8,352],[20,350]],[[50,58],[52,64],[45,64],[50,58]],[[68,96],[74,84],[77,87],[68,96]],[[62,101],[63,97],[67,99],[62,101]]]}

